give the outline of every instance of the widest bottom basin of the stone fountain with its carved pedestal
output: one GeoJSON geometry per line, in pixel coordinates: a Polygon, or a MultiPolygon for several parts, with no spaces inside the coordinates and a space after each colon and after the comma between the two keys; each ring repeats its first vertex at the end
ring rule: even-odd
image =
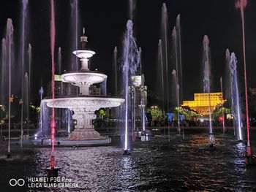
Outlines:
{"type": "MultiPolygon", "coordinates": [[[[97,117],[94,112],[100,108],[118,107],[124,101],[108,96],[61,96],[54,99],[54,107],[74,111],[72,117],[77,123],[67,140],[97,140],[105,138],[94,129],[92,120],[97,117]]],[[[46,102],[48,107],[53,107],[53,99],[43,99],[42,102],[46,102]]]]}

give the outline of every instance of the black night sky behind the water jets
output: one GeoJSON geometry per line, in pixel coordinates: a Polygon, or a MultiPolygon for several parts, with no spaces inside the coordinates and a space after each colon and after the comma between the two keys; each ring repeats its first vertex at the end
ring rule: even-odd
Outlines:
{"type": "MultiPolygon", "coordinates": [[[[128,1],[124,0],[80,0],[80,27],[86,27],[89,47],[97,54],[92,59],[92,69],[108,75],[108,86],[113,85],[113,49],[121,50],[128,13],[128,1]]],[[[227,80],[225,72],[225,50],[229,48],[238,58],[238,75],[241,89],[244,89],[242,63],[241,16],[234,8],[235,0],[138,0],[134,14],[135,37],[143,50],[143,73],[148,89],[157,92],[157,51],[161,38],[161,7],[167,4],[168,20],[171,29],[176,16],[181,14],[181,45],[183,55],[184,99],[192,99],[193,93],[202,92],[202,42],[208,35],[211,47],[212,90],[219,91],[219,77],[227,80]]],[[[61,47],[63,68],[71,65],[71,10],[69,0],[56,0],[56,58],[61,47]]],[[[5,34],[7,18],[12,18],[15,28],[15,68],[20,70],[18,59],[20,43],[21,1],[2,1],[0,7],[0,31],[5,34]]],[[[256,1],[249,0],[245,9],[246,60],[249,86],[256,87],[256,1]]],[[[33,49],[32,89],[34,98],[39,99],[38,91],[50,80],[50,0],[30,0],[27,18],[26,44],[31,42],[33,49]],[[37,98],[38,97],[38,98],[37,98]]],[[[81,31],[82,33],[82,31],[81,31]]],[[[26,46],[27,47],[27,46],[26,46]]],[[[57,59],[55,59],[57,62],[57,59]]],[[[170,64],[173,68],[174,64],[170,64]]],[[[18,83],[15,88],[18,88],[18,83]]],[[[108,91],[110,92],[110,91],[108,91]]]]}

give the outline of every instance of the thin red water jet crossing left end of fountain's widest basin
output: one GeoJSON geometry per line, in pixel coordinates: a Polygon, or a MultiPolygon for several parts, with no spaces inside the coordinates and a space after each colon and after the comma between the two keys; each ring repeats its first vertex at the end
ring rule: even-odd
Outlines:
{"type": "Polygon", "coordinates": [[[52,81],[51,81],[51,91],[53,99],[53,114],[50,122],[51,128],[51,157],[50,157],[50,167],[53,169],[55,165],[55,154],[54,154],[54,144],[55,144],[55,115],[54,115],[54,45],[55,45],[55,19],[54,19],[54,1],[50,1],[50,54],[51,54],[51,66],[52,66],[52,81]]]}

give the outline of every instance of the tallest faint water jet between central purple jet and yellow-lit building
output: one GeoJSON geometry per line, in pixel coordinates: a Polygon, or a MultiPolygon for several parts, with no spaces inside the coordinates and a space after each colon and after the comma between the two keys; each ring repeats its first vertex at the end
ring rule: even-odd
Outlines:
{"type": "MultiPolygon", "coordinates": [[[[168,108],[169,108],[169,88],[168,88],[168,51],[167,51],[167,8],[166,8],[166,4],[163,3],[162,4],[162,39],[164,42],[164,46],[165,46],[165,78],[166,78],[166,100],[167,100],[167,109],[166,112],[168,112],[168,108]]],[[[169,129],[168,129],[169,130],[169,129]]]]}

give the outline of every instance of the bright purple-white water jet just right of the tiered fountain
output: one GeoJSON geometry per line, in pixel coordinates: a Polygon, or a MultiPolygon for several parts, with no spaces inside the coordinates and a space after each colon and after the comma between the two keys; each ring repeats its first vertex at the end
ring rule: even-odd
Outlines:
{"type": "Polygon", "coordinates": [[[129,79],[130,76],[135,74],[139,64],[140,54],[138,47],[133,37],[132,31],[132,20],[127,21],[127,30],[124,34],[123,41],[123,56],[122,56],[122,74],[123,74],[123,91],[125,96],[125,107],[124,107],[124,153],[129,153],[128,147],[128,101],[129,101],[129,79]]]}

